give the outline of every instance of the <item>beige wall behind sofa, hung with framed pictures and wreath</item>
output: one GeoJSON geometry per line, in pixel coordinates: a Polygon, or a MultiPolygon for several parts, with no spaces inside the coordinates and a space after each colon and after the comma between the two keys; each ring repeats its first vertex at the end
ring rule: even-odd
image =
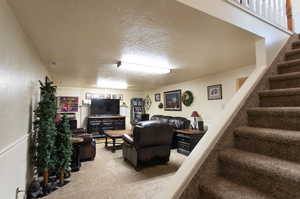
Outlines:
{"type": "Polygon", "coordinates": [[[224,109],[229,100],[236,93],[236,80],[241,77],[247,77],[254,70],[254,66],[247,66],[230,70],[215,75],[209,75],[200,79],[187,81],[179,84],[174,84],[159,88],[150,92],[147,92],[152,99],[152,106],[149,110],[151,115],[162,114],[171,116],[186,117],[190,120],[192,111],[198,111],[202,116],[206,125],[210,126],[216,119],[218,119],[219,113],[224,109]],[[208,100],[207,99],[207,86],[222,84],[223,99],[222,100],[208,100]],[[194,95],[194,102],[191,106],[187,107],[182,105],[182,111],[164,111],[159,109],[159,102],[155,102],[154,94],[161,94],[161,102],[163,102],[163,92],[170,90],[181,89],[182,93],[186,90],[190,90],[194,95]]]}

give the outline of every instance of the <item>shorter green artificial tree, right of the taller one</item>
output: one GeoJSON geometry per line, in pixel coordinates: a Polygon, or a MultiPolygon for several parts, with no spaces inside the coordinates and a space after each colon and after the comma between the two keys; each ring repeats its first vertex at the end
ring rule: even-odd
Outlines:
{"type": "Polygon", "coordinates": [[[65,170],[70,167],[72,156],[71,130],[69,120],[64,114],[62,119],[57,122],[56,136],[57,168],[60,173],[60,184],[64,184],[65,170]]]}

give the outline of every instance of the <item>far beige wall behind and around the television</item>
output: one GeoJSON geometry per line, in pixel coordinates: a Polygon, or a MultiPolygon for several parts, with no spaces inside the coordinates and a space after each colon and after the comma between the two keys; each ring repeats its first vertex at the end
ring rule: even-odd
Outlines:
{"type": "Polygon", "coordinates": [[[126,110],[126,128],[130,126],[130,99],[134,97],[144,97],[144,92],[119,90],[119,89],[93,89],[93,88],[71,88],[71,87],[59,87],[57,89],[57,96],[74,96],[79,97],[79,111],[76,114],[78,127],[86,127],[86,119],[89,115],[89,106],[82,104],[82,100],[85,99],[87,92],[99,93],[99,94],[123,94],[124,100],[128,106],[126,110]]]}

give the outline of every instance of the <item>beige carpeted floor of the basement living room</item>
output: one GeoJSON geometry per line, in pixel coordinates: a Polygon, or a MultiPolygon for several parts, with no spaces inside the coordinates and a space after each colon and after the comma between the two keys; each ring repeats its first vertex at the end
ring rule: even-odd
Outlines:
{"type": "Polygon", "coordinates": [[[69,184],[45,199],[149,199],[164,190],[185,158],[173,150],[167,165],[137,172],[123,160],[122,150],[112,153],[104,144],[97,144],[95,160],[83,162],[69,184]]]}

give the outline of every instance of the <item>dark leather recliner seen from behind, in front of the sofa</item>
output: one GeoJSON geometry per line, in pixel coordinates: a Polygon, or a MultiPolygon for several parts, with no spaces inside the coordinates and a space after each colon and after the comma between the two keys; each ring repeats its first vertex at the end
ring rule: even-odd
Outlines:
{"type": "Polygon", "coordinates": [[[160,121],[139,122],[133,137],[123,135],[123,157],[136,169],[169,161],[173,129],[160,121]]]}

